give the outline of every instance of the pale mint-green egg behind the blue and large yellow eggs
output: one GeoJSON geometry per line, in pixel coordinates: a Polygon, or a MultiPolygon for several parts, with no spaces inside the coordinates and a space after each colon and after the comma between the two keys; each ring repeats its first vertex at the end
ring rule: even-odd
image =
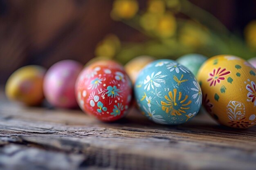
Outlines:
{"type": "Polygon", "coordinates": [[[199,68],[207,60],[207,57],[201,54],[186,54],[178,58],[176,61],[197,76],[199,68]]]}

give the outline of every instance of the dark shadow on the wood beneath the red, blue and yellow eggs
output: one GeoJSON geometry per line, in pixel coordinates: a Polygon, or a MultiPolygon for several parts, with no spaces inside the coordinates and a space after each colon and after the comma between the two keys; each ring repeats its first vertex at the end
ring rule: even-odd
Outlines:
{"type": "MultiPolygon", "coordinates": [[[[253,134],[255,127],[249,129],[237,129],[219,125],[208,114],[201,113],[189,122],[179,125],[162,125],[156,124],[145,116],[141,115],[138,110],[132,108],[130,113],[118,121],[104,122],[114,126],[127,126],[130,128],[148,128],[157,130],[168,130],[171,132],[182,132],[190,134],[223,134],[227,135],[246,135],[253,134]]],[[[131,129],[129,129],[131,130],[131,129]]],[[[256,136],[256,135],[255,135],[256,136]]]]}

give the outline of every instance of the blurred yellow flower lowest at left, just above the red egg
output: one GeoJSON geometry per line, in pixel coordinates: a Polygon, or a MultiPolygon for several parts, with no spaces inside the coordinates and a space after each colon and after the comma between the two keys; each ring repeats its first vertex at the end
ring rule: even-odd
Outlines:
{"type": "Polygon", "coordinates": [[[116,35],[110,34],[97,44],[95,55],[97,57],[113,58],[120,49],[120,41],[116,35]]]}

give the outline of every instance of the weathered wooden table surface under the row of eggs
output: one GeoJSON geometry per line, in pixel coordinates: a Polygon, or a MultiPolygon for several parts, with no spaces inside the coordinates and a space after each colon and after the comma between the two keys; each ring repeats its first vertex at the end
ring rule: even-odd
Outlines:
{"type": "Polygon", "coordinates": [[[81,110],[24,107],[0,93],[1,170],[256,170],[256,127],[225,128],[206,113],[179,126],[135,109],[114,123],[81,110]]]}

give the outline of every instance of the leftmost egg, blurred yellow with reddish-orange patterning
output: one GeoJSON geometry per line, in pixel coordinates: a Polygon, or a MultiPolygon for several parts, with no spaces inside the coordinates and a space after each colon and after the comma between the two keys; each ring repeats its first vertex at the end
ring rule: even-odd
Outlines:
{"type": "Polygon", "coordinates": [[[16,70],[7,80],[5,93],[8,99],[29,106],[43,101],[43,78],[46,69],[30,65],[16,70]]]}

